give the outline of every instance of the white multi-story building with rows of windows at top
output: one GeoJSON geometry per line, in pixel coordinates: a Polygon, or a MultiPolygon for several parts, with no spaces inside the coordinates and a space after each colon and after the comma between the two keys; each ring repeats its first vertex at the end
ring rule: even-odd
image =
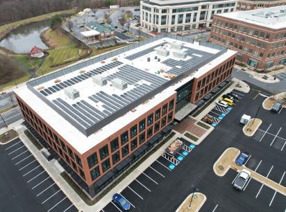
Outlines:
{"type": "Polygon", "coordinates": [[[185,1],[150,0],[140,3],[140,24],[158,33],[170,33],[212,26],[216,14],[233,12],[237,0],[185,1]]]}

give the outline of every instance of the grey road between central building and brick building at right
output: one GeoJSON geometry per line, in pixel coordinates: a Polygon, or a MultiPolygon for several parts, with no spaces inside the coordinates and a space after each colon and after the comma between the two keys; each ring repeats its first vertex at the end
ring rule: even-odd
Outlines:
{"type": "Polygon", "coordinates": [[[261,82],[259,80],[255,80],[255,78],[252,78],[249,73],[245,73],[244,71],[240,71],[239,69],[235,68],[233,69],[232,76],[239,80],[244,80],[246,82],[250,82],[253,85],[261,87],[262,89],[269,91],[271,94],[277,94],[286,91],[286,80],[276,83],[261,82]]]}

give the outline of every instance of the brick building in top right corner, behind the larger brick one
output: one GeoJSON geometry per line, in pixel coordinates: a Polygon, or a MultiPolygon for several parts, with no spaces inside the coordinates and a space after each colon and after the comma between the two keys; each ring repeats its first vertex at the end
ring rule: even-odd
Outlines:
{"type": "Polygon", "coordinates": [[[259,1],[259,0],[239,0],[237,3],[237,10],[256,10],[262,8],[271,8],[277,6],[286,5],[285,0],[270,0],[270,1],[259,1]]]}

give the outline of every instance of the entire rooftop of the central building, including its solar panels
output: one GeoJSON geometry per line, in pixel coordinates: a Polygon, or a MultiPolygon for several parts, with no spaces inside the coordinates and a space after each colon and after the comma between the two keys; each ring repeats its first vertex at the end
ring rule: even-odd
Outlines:
{"type": "Polygon", "coordinates": [[[84,153],[235,53],[163,37],[105,60],[88,60],[87,67],[63,76],[52,73],[34,80],[32,90],[15,93],[84,153]]]}

